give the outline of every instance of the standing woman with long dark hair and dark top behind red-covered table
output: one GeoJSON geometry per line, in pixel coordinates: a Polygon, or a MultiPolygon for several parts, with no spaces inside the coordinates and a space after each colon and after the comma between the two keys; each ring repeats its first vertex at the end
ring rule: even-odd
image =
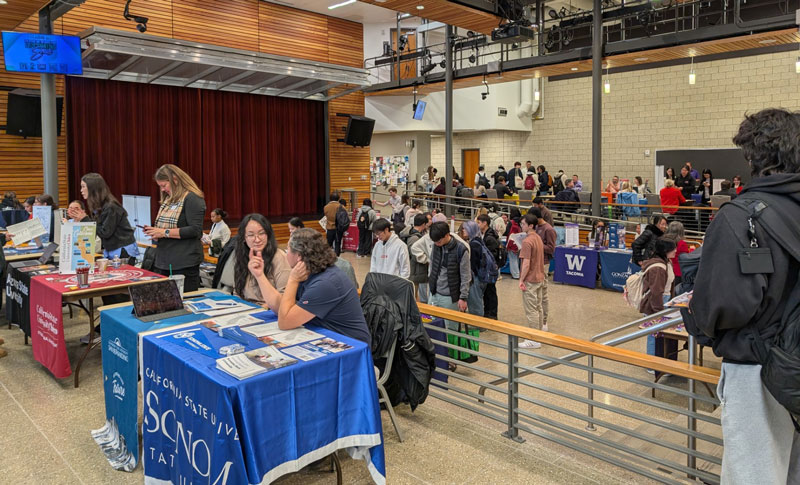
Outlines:
{"type": "Polygon", "coordinates": [[[139,248],[128,222],[128,213],[111,194],[103,176],[87,173],[81,177],[81,195],[86,200],[88,212],[77,204],[70,204],[67,215],[76,221],[97,223],[97,237],[103,242],[103,256],[109,259],[138,256],[139,248]]]}

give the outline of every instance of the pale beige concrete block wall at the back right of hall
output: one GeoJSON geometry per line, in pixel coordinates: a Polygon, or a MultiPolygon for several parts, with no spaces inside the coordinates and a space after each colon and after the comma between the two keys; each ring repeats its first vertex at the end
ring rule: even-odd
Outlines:
{"type": "MultiPolygon", "coordinates": [[[[659,149],[730,148],[746,112],[767,107],[800,110],[798,52],[764,54],[670,66],[610,76],[603,95],[603,173],[653,177],[659,149]],[[650,150],[650,156],[645,156],[650,150]]],[[[545,82],[544,119],[531,133],[486,131],[453,137],[453,165],[461,172],[461,149],[479,148],[487,171],[498,163],[533,160],[551,173],[563,169],[591,185],[591,78],[545,82]]],[[[444,173],[444,137],[431,139],[431,161],[444,173]]],[[[702,168],[698,161],[696,167],[702,168]]]]}

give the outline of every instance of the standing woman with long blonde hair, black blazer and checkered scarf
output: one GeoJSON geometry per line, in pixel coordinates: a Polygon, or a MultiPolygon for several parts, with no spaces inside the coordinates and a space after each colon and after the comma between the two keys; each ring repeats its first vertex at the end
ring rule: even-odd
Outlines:
{"type": "Polygon", "coordinates": [[[163,275],[184,275],[184,291],[195,291],[200,287],[203,262],[203,191],[189,174],[171,163],[162,165],[153,178],[161,189],[161,207],[155,224],[144,228],[157,244],[153,267],[163,275]]]}

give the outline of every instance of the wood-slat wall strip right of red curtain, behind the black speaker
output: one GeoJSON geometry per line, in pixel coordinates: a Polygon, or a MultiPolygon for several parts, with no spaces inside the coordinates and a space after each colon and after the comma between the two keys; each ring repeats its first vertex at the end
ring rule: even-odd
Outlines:
{"type": "MultiPolygon", "coordinates": [[[[336,89],[341,92],[344,88],[336,89]]],[[[364,94],[353,93],[328,102],[328,145],[331,190],[369,190],[369,147],[355,148],[337,141],[344,138],[347,118],[336,113],[363,115],[364,94]],[[362,176],[364,180],[361,180],[362,176]]]]}

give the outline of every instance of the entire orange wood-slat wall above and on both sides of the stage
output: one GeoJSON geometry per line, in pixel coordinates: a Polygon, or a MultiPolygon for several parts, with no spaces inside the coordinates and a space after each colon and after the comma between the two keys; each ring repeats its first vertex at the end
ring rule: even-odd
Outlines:
{"type": "MultiPolygon", "coordinates": [[[[135,32],[135,24],[122,17],[124,6],[125,0],[86,0],[58,19],[54,32],[75,35],[92,26],[135,32]]],[[[137,0],[133,6],[134,13],[149,17],[148,34],[352,67],[363,64],[363,26],[356,22],[260,0],[137,0]]],[[[30,16],[15,30],[37,31],[38,16],[30,16]]],[[[39,76],[8,73],[0,67],[0,86],[39,89],[39,76]]],[[[64,94],[63,76],[56,76],[56,92],[64,94]]],[[[0,90],[0,124],[5,124],[7,97],[7,92],[0,90]]],[[[341,129],[347,126],[347,119],[335,113],[363,115],[363,94],[331,101],[329,112],[331,187],[369,190],[369,149],[336,141],[344,137],[341,129]],[[362,175],[366,180],[361,180],[362,175]]],[[[59,204],[64,205],[69,192],[66,113],[61,133],[59,204]]],[[[16,190],[21,198],[42,193],[41,138],[24,140],[0,130],[0,191],[4,190],[16,190]]]]}

